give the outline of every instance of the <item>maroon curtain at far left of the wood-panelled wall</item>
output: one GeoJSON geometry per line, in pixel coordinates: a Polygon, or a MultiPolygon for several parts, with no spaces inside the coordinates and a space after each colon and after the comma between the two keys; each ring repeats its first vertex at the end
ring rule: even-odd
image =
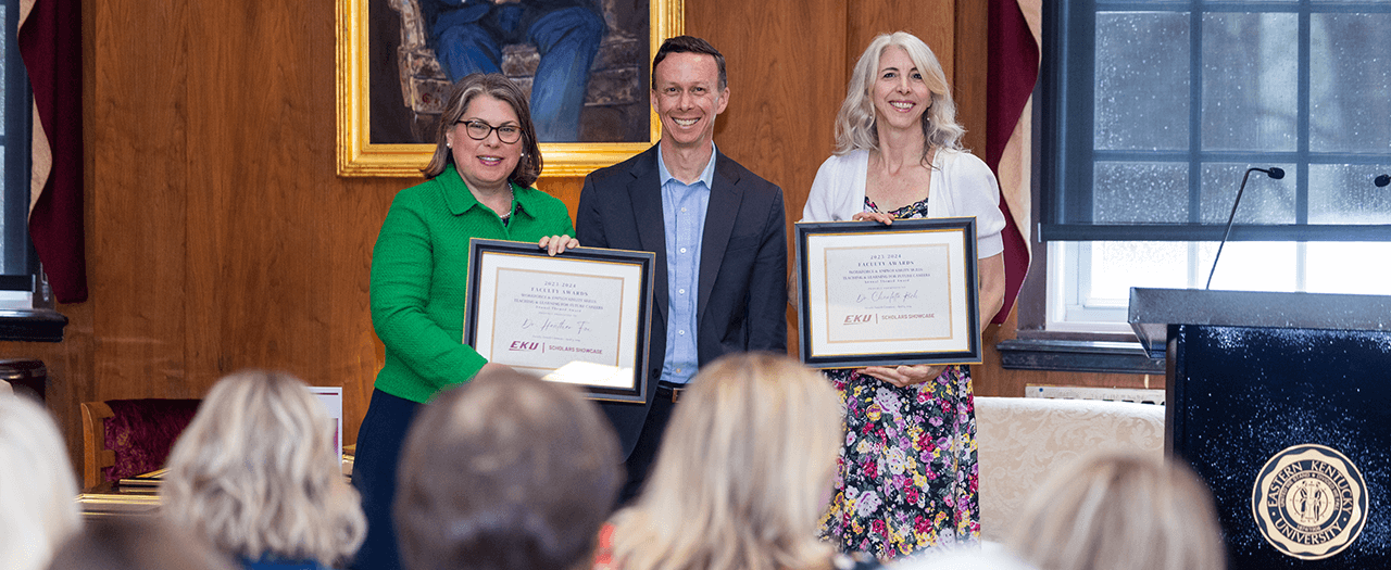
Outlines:
{"type": "MultiPolygon", "coordinates": [[[[38,0],[19,29],[53,174],[29,213],[29,236],[60,303],[88,298],[82,229],[82,1],[38,0]]],[[[40,125],[33,125],[39,128],[40,125]]]]}

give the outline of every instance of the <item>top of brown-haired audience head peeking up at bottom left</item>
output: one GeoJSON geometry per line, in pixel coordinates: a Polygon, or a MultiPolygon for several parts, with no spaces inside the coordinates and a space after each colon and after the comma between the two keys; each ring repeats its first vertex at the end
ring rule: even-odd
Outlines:
{"type": "Polygon", "coordinates": [[[159,517],[92,521],[63,544],[49,570],[232,570],[202,537],[159,517]]]}

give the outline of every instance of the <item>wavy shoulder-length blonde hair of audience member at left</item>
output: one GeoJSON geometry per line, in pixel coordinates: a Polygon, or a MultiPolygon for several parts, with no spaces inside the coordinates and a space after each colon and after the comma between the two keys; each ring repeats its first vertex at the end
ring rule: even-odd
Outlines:
{"type": "Polygon", "coordinates": [[[331,566],[356,552],[366,532],[332,430],[323,405],[292,375],[223,378],[170,453],[163,510],[232,555],[331,566]]]}

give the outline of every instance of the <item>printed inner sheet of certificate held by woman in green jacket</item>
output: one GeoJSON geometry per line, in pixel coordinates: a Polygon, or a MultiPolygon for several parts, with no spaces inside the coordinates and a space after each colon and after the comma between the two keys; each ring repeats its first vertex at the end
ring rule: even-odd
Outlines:
{"type": "Polygon", "coordinates": [[[491,361],[537,374],[570,361],[619,366],[623,278],[508,267],[495,275],[491,361]]]}

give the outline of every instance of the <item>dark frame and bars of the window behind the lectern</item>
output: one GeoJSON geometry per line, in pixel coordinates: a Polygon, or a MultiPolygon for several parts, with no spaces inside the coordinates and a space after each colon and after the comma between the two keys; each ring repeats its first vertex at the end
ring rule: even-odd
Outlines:
{"type": "MultiPolygon", "coordinates": [[[[1295,164],[1295,222],[1237,224],[1228,241],[1262,242],[1381,242],[1391,241],[1391,224],[1309,224],[1309,167],[1319,164],[1391,164],[1391,152],[1323,153],[1309,149],[1310,122],[1310,18],[1312,14],[1391,14],[1391,3],[1328,3],[1296,0],[1202,1],[1202,0],[1057,0],[1043,3],[1043,46],[1035,100],[1039,128],[1036,146],[1047,157],[1036,170],[1043,190],[1038,236],[1043,242],[1064,241],[1174,241],[1216,242],[1223,239],[1221,222],[1202,222],[1202,167],[1213,163],[1295,164]],[[1189,18],[1189,143],[1188,150],[1096,150],[1093,142],[1093,86],[1096,11],[1188,11],[1189,18]],[[1298,114],[1296,149],[1292,152],[1227,152],[1202,149],[1202,72],[1206,14],[1281,13],[1298,18],[1298,114]],[[1074,31],[1077,31],[1074,33],[1074,31]],[[1053,101],[1059,101],[1056,106],[1053,101]],[[1047,135],[1047,133],[1052,133],[1047,135]],[[1092,175],[1097,160],[1164,160],[1188,163],[1188,221],[1182,224],[1093,224],[1092,175]],[[1182,158],[1182,160],[1178,160],[1182,158]]],[[[1370,185],[1372,181],[1369,179],[1370,185]]]]}

